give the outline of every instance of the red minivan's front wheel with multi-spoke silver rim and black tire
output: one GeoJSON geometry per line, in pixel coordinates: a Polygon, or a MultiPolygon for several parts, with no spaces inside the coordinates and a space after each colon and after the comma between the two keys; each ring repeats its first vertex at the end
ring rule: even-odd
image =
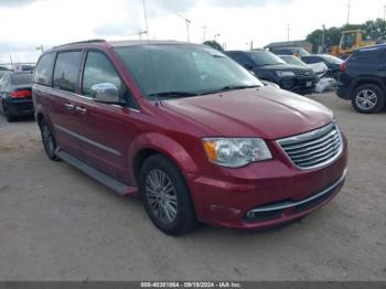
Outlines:
{"type": "Polygon", "coordinates": [[[195,228],[195,213],[185,179],[168,158],[154,154],[146,160],[139,185],[144,208],[160,231],[180,236],[195,228]]]}

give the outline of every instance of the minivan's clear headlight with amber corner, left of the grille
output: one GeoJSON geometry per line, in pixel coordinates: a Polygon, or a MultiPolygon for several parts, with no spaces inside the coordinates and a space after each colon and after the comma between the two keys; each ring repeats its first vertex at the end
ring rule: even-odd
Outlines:
{"type": "Polygon", "coordinates": [[[205,138],[203,143],[207,159],[222,167],[240,168],[272,159],[266,142],[259,138],[205,138]]]}

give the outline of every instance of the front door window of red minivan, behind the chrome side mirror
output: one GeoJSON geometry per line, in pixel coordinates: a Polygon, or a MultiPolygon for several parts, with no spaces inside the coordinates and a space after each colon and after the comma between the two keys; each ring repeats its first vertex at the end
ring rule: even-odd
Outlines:
{"type": "Polygon", "coordinates": [[[128,103],[129,107],[138,108],[130,90],[119,77],[111,62],[106,55],[98,52],[89,52],[87,54],[82,94],[88,97],[94,97],[93,86],[96,84],[111,83],[117,86],[121,100],[128,103]]]}

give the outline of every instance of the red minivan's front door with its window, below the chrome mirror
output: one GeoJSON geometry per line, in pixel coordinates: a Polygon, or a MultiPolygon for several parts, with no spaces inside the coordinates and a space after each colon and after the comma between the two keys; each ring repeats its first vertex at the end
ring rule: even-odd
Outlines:
{"type": "MultiPolygon", "coordinates": [[[[128,180],[128,148],[139,127],[135,118],[140,113],[112,63],[106,54],[89,51],[84,65],[79,106],[87,118],[87,131],[83,141],[85,159],[93,167],[122,180],[128,180]],[[93,86],[114,84],[125,105],[103,104],[94,100],[93,86]]],[[[108,99],[106,99],[108,100],[108,99]]]]}

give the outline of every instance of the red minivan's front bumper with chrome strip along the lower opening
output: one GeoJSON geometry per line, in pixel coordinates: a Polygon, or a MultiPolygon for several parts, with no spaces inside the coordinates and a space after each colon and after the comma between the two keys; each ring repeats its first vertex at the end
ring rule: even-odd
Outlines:
{"type": "Polygon", "coordinates": [[[346,147],[344,140],[341,157],[315,170],[299,170],[271,160],[250,164],[237,173],[229,171],[225,180],[187,175],[197,218],[238,229],[272,227],[300,218],[331,201],[342,189],[346,147]]]}

